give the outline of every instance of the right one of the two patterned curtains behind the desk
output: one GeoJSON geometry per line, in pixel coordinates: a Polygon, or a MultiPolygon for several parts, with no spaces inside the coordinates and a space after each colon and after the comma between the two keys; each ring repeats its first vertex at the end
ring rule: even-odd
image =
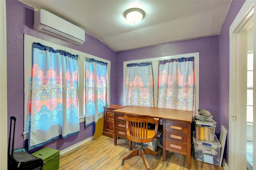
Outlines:
{"type": "Polygon", "coordinates": [[[194,57],[159,62],[157,107],[194,108],[194,57]]]}

